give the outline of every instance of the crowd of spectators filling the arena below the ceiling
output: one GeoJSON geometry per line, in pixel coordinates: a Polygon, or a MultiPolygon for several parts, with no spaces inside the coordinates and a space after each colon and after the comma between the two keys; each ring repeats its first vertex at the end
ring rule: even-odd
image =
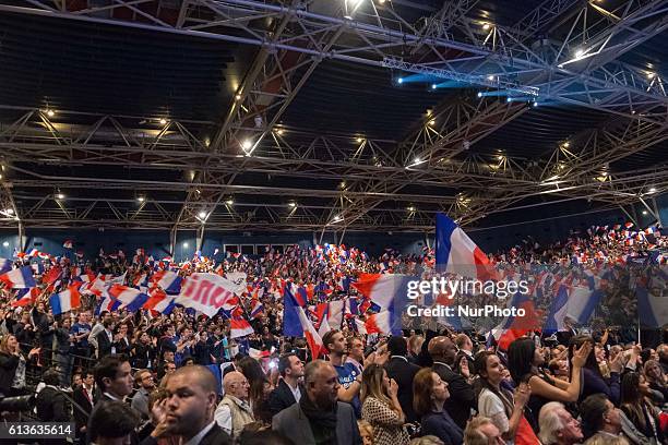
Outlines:
{"type": "MultiPolygon", "coordinates": [[[[661,264],[667,245],[656,231],[593,228],[490,258],[661,264]]],[[[360,333],[355,317],[372,312],[369,304],[319,329],[317,357],[307,338],[284,334],[286,281],[306,289],[309,304],[334,301],[355,294],[349,281],[362,273],[430,274],[429,250],[371,258],[327,245],[223,261],[198,254],[180,264],[143,251],[81,263],[19,255],[15,265],[36,261],[44,263],[36,291],[26,299],[5,285],[0,300],[0,394],[36,397],[29,412],[2,414],[74,422],[82,444],[668,443],[665,330],[657,329],[663,340],[641,346],[605,326],[568,325],[549,340],[527,332],[501,348],[461,326],[360,333]],[[164,313],[109,309],[95,291],[99,280],[141,287],[160,269],[241,276],[246,289],[230,311],[249,320],[252,333],[236,335],[229,311],[207,317],[180,305],[164,313]],[[48,296],[76,281],[80,303],[53,314],[48,296]]]]}

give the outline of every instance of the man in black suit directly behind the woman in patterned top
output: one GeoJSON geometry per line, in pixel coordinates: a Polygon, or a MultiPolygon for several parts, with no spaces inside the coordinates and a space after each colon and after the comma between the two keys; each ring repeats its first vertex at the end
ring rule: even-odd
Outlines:
{"type": "Polygon", "coordinates": [[[390,360],[385,363],[387,378],[394,378],[398,385],[397,399],[402,406],[406,422],[418,422],[419,419],[413,409],[413,378],[420,366],[408,362],[408,344],[401,336],[392,336],[387,340],[390,360]]]}

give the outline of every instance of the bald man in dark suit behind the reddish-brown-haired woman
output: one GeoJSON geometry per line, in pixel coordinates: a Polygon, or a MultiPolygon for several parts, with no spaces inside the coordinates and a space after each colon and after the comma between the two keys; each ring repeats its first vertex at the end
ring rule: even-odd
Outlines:
{"type": "Polygon", "coordinates": [[[443,382],[448,383],[450,398],[445,400],[443,408],[452,420],[464,430],[466,421],[470,417],[470,410],[477,409],[476,394],[473,386],[467,382],[469,375],[464,376],[453,371],[457,349],[449,337],[432,338],[428,348],[433,360],[433,372],[439,374],[443,382]]]}

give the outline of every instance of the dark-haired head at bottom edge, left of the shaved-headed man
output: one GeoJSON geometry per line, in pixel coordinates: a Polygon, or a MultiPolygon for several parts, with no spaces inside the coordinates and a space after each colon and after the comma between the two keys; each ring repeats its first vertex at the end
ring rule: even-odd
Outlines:
{"type": "Polygon", "coordinates": [[[91,414],[88,437],[95,445],[129,444],[139,421],[138,413],[122,401],[104,400],[91,414]]]}

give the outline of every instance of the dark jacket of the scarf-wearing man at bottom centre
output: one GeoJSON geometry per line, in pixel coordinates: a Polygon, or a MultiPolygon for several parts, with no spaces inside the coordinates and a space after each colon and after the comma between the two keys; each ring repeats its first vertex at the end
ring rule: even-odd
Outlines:
{"type": "MultiPolygon", "coordinates": [[[[303,397],[307,397],[307,395],[305,394],[303,397]]],[[[357,419],[355,418],[353,406],[343,401],[337,401],[337,404],[336,444],[361,445],[362,441],[357,428],[357,419]]],[[[274,416],[272,430],[289,437],[294,444],[315,445],[311,424],[299,404],[295,404],[274,416]]]]}

